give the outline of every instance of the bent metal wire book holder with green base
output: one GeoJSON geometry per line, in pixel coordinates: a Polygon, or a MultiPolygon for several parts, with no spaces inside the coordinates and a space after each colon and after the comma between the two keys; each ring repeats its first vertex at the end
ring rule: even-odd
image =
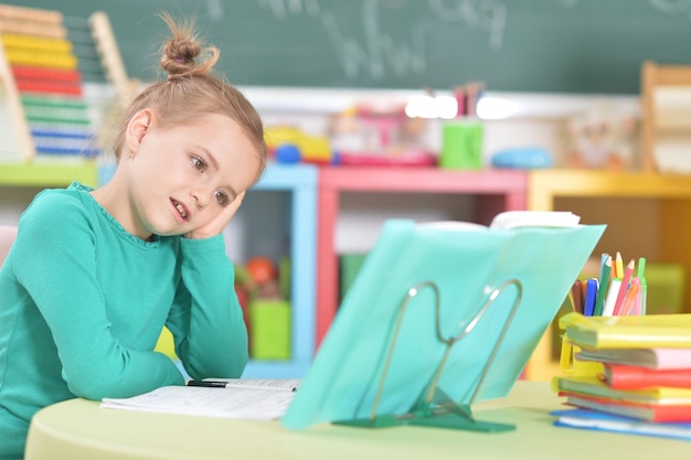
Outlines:
{"type": "Polygon", "coordinates": [[[442,324],[440,324],[440,307],[439,307],[439,288],[436,284],[432,281],[421,282],[408,289],[401,304],[398,306],[398,313],[396,317],[396,322],[394,325],[393,336],[391,340],[391,344],[389,346],[389,352],[386,354],[386,360],[383,365],[382,375],[379,382],[376,395],[374,397],[374,402],[372,404],[372,408],[370,411],[369,418],[353,419],[353,420],[339,420],[334,421],[337,425],[348,425],[355,427],[364,427],[364,428],[384,428],[384,427],[394,427],[401,425],[417,425],[425,427],[436,427],[436,428],[450,428],[450,429],[461,429],[469,431],[483,431],[483,432],[500,432],[500,431],[509,431],[515,429],[514,425],[509,424],[499,424],[491,421],[480,421],[477,420],[472,416],[471,406],[475,403],[477,396],[479,395],[479,391],[482,387],[482,384],[486,381],[489,370],[497,357],[497,353],[503,342],[503,339],[507,335],[507,331],[509,330],[513,317],[518,310],[519,304],[521,303],[521,298],[523,295],[523,286],[521,281],[518,279],[510,279],[501,284],[499,287],[495,288],[487,300],[482,304],[482,307],[475,314],[472,320],[466,325],[466,328],[458,333],[457,335],[444,338],[442,334],[442,324]],[[467,404],[458,404],[453,400],[442,388],[439,388],[438,382],[444,372],[445,365],[448,361],[453,346],[463,340],[465,336],[470,334],[478,322],[482,319],[485,313],[489,310],[490,306],[493,301],[499,297],[499,295],[507,289],[509,286],[515,286],[517,288],[517,297],[511,307],[511,311],[507,317],[507,320],[501,329],[501,332],[498,336],[497,343],[495,344],[489,359],[482,366],[482,371],[480,373],[479,379],[472,395],[467,404]],[[397,414],[397,415],[378,415],[376,409],[383,395],[384,383],[386,381],[386,375],[389,372],[389,366],[391,364],[393,353],[396,346],[396,342],[398,339],[398,332],[401,329],[401,324],[403,321],[403,317],[405,315],[408,303],[413,298],[415,298],[422,289],[429,288],[434,292],[435,297],[435,314],[436,314],[436,335],[439,342],[446,345],[446,350],[442,360],[439,361],[434,375],[429,379],[429,383],[426,385],[419,398],[413,405],[406,414],[397,414]]]}

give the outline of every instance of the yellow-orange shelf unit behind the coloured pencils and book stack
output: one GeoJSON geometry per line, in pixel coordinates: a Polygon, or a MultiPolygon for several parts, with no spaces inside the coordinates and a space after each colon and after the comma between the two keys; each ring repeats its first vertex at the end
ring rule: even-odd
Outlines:
{"type": "MultiPolygon", "coordinates": [[[[593,252],[620,252],[625,260],[646,257],[649,266],[659,264],[658,272],[676,267],[683,272],[682,286],[648,286],[648,298],[677,291],[691,282],[691,176],[655,172],[612,172],[587,170],[535,170],[528,179],[528,208],[533,211],[572,211],[583,224],[607,224],[593,252]]],[[[652,271],[652,270],[651,270],[652,271]]],[[[651,274],[652,277],[652,274],[651,274]]],[[[665,282],[666,280],[660,280],[665,282]]],[[[679,282],[678,282],[679,284],[679,282]]],[[[651,306],[655,308],[655,306],[651,306]]],[[[684,293],[679,312],[691,312],[691,298],[684,293]]],[[[652,313],[651,309],[648,310],[652,313]]],[[[561,373],[556,322],[546,331],[525,376],[549,379],[561,373]]]]}

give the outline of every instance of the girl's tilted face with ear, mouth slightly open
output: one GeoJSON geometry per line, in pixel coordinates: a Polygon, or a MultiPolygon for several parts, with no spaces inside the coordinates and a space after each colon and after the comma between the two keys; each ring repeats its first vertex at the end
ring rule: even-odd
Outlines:
{"type": "Polygon", "coordinates": [[[254,183],[258,153],[230,117],[211,114],[166,128],[150,113],[136,117],[127,145],[132,154],[121,159],[132,210],[134,228],[126,228],[136,236],[194,232],[254,183]]]}

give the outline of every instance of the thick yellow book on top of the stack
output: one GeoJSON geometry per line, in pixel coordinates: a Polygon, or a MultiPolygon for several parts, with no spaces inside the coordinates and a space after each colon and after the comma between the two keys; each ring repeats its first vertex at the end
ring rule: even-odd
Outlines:
{"type": "Polygon", "coordinates": [[[691,314],[584,317],[560,319],[564,340],[585,349],[691,349],[691,314]]]}

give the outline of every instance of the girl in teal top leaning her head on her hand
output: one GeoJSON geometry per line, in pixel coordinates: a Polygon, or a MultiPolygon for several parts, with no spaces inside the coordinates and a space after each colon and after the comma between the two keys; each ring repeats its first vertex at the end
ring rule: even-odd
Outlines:
{"type": "Polygon", "coordinates": [[[217,50],[163,19],[168,78],[117,127],[113,179],[40,193],[0,270],[2,459],[22,458],[42,407],[184,385],[153,351],[163,324],[192,378],[238,377],[247,362],[221,232],[264,170],[263,126],[211,75],[217,50]]]}

